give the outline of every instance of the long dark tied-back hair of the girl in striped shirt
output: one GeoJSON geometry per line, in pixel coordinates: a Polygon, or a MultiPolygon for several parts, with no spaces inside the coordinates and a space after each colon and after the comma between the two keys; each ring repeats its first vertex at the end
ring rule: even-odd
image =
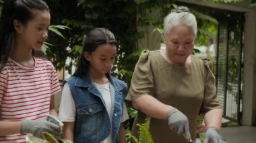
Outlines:
{"type": "MultiPolygon", "coordinates": [[[[15,29],[13,20],[26,25],[34,18],[32,10],[50,11],[48,5],[42,0],[5,0],[0,17],[0,70],[5,66],[9,52],[15,43],[15,29]]],[[[32,54],[36,56],[36,52],[32,54]]]]}

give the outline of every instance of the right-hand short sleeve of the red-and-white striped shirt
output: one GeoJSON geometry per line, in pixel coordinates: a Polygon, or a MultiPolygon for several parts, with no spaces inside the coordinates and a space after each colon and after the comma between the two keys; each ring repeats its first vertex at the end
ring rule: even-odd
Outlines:
{"type": "Polygon", "coordinates": [[[51,95],[54,95],[55,93],[58,93],[59,91],[61,91],[61,86],[59,85],[59,78],[57,76],[55,67],[53,66],[53,64],[51,64],[52,66],[52,71],[51,71],[51,95]]]}

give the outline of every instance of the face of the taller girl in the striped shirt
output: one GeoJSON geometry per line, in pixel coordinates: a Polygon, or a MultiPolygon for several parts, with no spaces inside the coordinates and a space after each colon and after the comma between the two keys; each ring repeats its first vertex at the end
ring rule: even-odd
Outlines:
{"type": "Polygon", "coordinates": [[[25,25],[18,23],[15,30],[18,33],[20,44],[23,44],[24,48],[41,50],[42,44],[48,37],[51,15],[47,10],[32,10],[32,12],[34,18],[30,19],[25,25]]]}

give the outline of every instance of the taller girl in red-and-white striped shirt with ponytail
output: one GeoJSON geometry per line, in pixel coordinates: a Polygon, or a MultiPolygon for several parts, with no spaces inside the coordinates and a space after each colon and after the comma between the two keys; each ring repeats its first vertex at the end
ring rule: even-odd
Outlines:
{"type": "Polygon", "coordinates": [[[49,7],[42,0],[4,1],[0,19],[0,142],[25,142],[24,134],[60,136],[46,121],[57,115],[61,90],[53,64],[36,56],[47,38],[49,7]]]}

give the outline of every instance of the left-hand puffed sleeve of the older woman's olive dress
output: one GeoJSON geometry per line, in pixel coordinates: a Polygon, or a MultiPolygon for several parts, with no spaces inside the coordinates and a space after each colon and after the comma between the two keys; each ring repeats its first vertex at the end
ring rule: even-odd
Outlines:
{"type": "Polygon", "coordinates": [[[131,78],[131,86],[126,99],[132,101],[144,93],[152,95],[153,87],[154,82],[150,68],[150,51],[143,50],[135,65],[133,77],[131,78]]]}

